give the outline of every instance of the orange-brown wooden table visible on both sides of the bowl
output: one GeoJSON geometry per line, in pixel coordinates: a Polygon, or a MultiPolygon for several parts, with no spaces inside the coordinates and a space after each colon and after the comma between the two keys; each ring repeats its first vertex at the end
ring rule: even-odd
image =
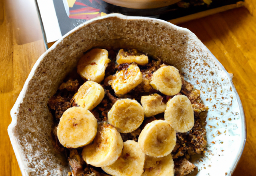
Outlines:
{"type": "MultiPolygon", "coordinates": [[[[249,1],[249,0],[248,0],[249,1]]],[[[256,7],[255,0],[246,8],[229,10],[179,26],[190,29],[209,48],[226,70],[242,100],[247,124],[247,141],[233,176],[255,176],[256,166],[256,7]],[[254,14],[251,15],[251,14],[254,14]]],[[[13,2],[0,0],[0,170],[2,176],[21,176],[7,134],[10,110],[32,66],[44,53],[42,32],[34,10],[26,14],[30,25],[13,11],[13,2]],[[29,28],[27,27],[29,26],[29,28]]],[[[27,0],[30,3],[33,0],[27,0]]],[[[19,3],[16,4],[17,8],[19,3]]]]}

